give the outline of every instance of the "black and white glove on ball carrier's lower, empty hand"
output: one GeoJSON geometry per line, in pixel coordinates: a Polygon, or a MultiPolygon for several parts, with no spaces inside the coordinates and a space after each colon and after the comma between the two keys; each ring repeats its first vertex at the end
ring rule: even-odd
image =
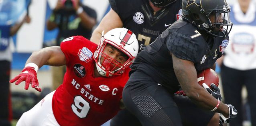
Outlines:
{"type": "Polygon", "coordinates": [[[229,108],[229,112],[230,112],[230,116],[228,118],[226,118],[225,116],[223,116],[223,114],[219,114],[219,126],[222,126],[224,124],[224,122],[228,123],[230,122],[233,118],[236,118],[237,116],[237,110],[234,106],[232,106],[231,104],[226,104],[229,108]]]}

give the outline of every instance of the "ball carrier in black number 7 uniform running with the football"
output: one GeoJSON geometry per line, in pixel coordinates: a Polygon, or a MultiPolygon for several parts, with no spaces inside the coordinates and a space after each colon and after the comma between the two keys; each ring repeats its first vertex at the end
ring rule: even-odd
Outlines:
{"type": "Polygon", "coordinates": [[[211,95],[212,90],[209,94],[197,83],[197,72],[213,68],[228,45],[230,6],[226,0],[182,3],[183,20],[172,24],[138,54],[123,90],[126,108],[143,126],[182,126],[173,99],[180,86],[197,106],[219,112],[220,125],[237,115],[234,106],[224,104],[219,94],[211,95]]]}

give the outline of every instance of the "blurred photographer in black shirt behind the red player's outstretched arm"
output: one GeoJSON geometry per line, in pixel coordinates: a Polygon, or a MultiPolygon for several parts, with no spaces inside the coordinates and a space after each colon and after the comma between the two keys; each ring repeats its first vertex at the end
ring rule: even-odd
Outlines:
{"type": "MultiPolygon", "coordinates": [[[[79,0],[58,0],[55,9],[47,21],[47,29],[59,28],[57,46],[65,38],[81,35],[87,39],[91,37],[91,31],[96,24],[97,14],[95,10],[84,6],[79,0]]],[[[53,90],[62,84],[65,66],[52,67],[53,90]]]]}

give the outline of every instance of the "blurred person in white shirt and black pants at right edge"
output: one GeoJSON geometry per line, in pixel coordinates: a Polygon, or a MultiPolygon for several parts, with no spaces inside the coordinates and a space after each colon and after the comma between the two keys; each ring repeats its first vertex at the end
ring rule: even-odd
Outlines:
{"type": "Polygon", "coordinates": [[[218,60],[226,103],[236,107],[238,116],[230,126],[242,126],[242,86],[246,86],[252,126],[256,126],[256,5],[253,0],[238,0],[230,18],[234,23],[230,44],[218,60]],[[221,65],[222,64],[222,65],[221,65]]]}

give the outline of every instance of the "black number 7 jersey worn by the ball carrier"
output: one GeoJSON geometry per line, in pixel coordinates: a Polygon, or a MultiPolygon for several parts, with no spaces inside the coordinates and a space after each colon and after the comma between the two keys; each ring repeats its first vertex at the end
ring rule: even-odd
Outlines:
{"type": "Polygon", "coordinates": [[[179,89],[179,82],[170,52],[178,58],[194,62],[197,72],[210,68],[222,56],[229,39],[208,38],[205,40],[192,24],[179,20],[146,46],[137,55],[131,68],[142,70],[158,84],[175,92],[179,89]]]}

